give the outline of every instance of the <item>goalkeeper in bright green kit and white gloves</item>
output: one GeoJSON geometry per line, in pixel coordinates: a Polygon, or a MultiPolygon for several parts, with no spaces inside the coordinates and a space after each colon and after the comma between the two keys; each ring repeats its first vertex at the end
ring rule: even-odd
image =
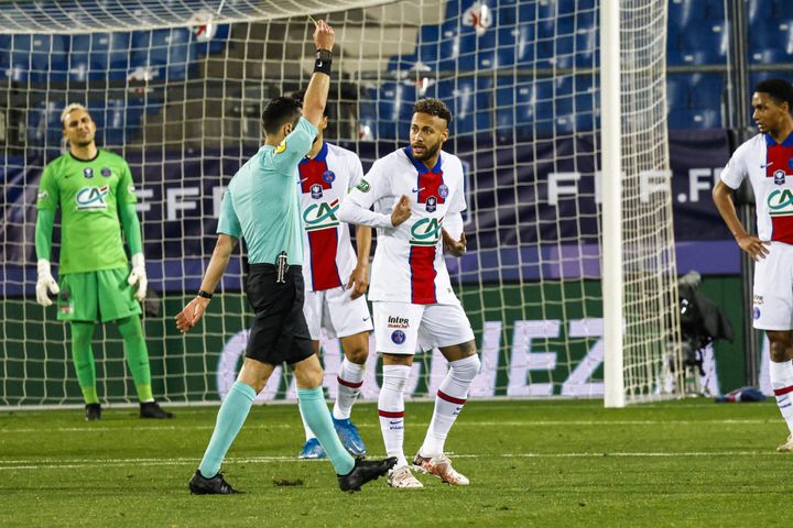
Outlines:
{"type": "Polygon", "coordinates": [[[57,318],[70,322],[72,359],[85,399],[86,420],[101,418],[91,352],[94,322],[116,321],[123,338],[127,364],[132,372],[141,418],[172,418],[152,397],[149,353],[141,327],[146,289],[138,201],[132,175],[124,160],[97,148],[96,124],[82,105],[69,105],[61,114],[69,152],[44,169],[36,208],[35,249],[39,279],[36,300],[53,304],[57,318]],[[61,285],[52,276],[55,210],[61,207],[61,285]],[[120,221],[119,221],[120,219],[120,221]],[[132,254],[129,270],[121,226],[132,254]]]}

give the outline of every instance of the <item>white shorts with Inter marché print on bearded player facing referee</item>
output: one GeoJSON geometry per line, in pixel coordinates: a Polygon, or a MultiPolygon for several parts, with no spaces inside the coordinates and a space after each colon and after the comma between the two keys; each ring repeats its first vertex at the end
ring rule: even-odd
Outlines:
{"type": "Polygon", "coordinates": [[[415,354],[474,340],[468,317],[460,305],[413,305],[376,300],[374,343],[378,352],[415,354]]]}

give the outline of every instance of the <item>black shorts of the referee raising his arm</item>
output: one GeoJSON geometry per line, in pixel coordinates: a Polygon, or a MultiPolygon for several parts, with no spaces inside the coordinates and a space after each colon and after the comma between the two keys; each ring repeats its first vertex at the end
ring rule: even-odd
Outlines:
{"type": "Polygon", "coordinates": [[[273,264],[251,264],[246,282],[256,317],[246,356],[280,365],[298,363],[314,354],[303,315],[303,272],[290,266],[285,282],[275,282],[273,264]]]}

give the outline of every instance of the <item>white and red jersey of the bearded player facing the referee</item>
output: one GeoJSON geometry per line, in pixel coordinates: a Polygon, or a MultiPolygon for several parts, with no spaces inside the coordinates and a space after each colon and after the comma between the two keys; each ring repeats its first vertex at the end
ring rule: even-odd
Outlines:
{"type": "Polygon", "coordinates": [[[441,152],[428,169],[410,147],[378,160],[350,191],[349,200],[390,215],[402,195],[410,197],[411,217],[397,228],[378,229],[370,300],[420,305],[458,304],[443,256],[444,217],[466,208],[463,164],[441,152]]]}

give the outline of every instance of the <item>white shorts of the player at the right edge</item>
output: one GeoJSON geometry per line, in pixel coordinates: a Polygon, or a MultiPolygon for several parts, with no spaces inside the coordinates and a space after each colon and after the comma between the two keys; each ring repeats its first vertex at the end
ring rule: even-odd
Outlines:
{"type": "Polygon", "coordinates": [[[771,242],[754,263],[752,317],[759,330],[793,330],[793,245],[771,242]]]}

